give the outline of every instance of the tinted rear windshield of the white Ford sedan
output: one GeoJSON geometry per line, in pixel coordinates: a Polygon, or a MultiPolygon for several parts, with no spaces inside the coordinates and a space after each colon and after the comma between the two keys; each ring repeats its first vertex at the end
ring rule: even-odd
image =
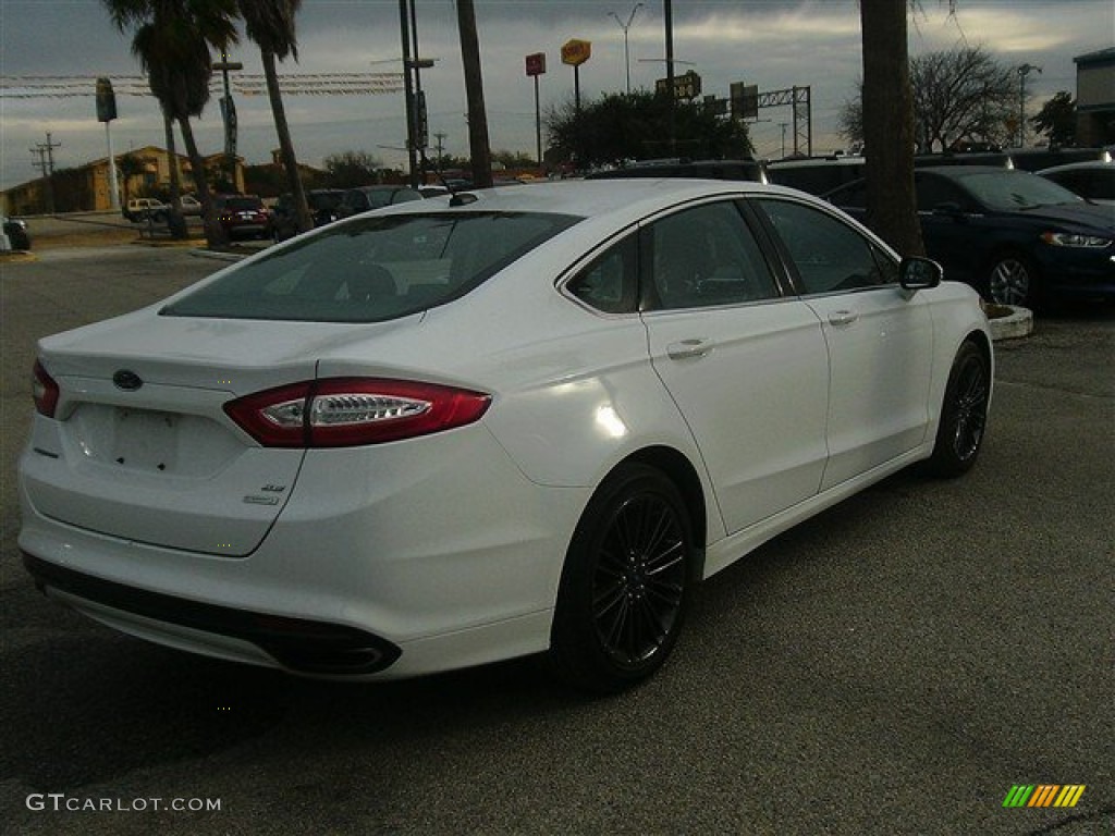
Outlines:
{"type": "Polygon", "coordinates": [[[580,218],[536,213],[360,217],[233,269],[167,317],[381,322],[476,288],[580,218]]]}

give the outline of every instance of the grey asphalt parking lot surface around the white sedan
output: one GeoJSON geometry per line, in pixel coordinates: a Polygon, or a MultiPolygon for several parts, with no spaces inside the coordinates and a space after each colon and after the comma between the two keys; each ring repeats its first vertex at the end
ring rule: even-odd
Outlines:
{"type": "Polygon", "coordinates": [[[14,490],[35,340],[219,265],[130,245],[0,262],[7,833],[1115,833],[1115,305],[997,346],[967,477],[902,473],[769,543],[706,584],[653,680],[590,699],[530,660],[295,680],[35,591],[14,490]],[[1005,808],[1016,785],[1085,790],[1005,808]]]}

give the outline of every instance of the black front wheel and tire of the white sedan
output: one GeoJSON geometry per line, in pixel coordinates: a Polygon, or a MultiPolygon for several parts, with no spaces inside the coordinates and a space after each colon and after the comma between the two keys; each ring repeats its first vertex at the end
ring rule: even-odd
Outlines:
{"type": "Polygon", "coordinates": [[[957,352],[941,405],[930,470],[960,476],[971,469],[983,444],[991,396],[991,369],[983,352],[966,342],[957,352]]]}

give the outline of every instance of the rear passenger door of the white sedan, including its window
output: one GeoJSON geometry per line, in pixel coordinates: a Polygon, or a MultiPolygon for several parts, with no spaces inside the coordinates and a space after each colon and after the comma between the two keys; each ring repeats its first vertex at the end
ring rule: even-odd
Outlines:
{"type": "Polygon", "coordinates": [[[734,201],[657,218],[640,242],[651,362],[692,431],[727,531],[814,496],[828,406],[816,314],[780,294],[734,201]]]}

